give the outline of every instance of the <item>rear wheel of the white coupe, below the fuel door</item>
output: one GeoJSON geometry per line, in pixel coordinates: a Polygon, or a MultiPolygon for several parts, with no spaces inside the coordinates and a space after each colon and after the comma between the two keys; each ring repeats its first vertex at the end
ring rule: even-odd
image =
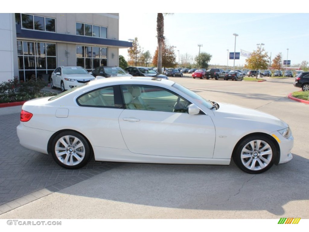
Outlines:
{"type": "Polygon", "coordinates": [[[50,146],[53,159],[66,169],[81,168],[92,158],[87,140],[75,131],[62,131],[55,136],[50,146]]]}

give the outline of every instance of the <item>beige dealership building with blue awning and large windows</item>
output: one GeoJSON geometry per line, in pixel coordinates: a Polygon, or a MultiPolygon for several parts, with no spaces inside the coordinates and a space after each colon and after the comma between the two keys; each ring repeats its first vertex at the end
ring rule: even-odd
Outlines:
{"type": "Polygon", "coordinates": [[[50,79],[59,66],[119,66],[118,13],[1,13],[0,83],[50,79]]]}

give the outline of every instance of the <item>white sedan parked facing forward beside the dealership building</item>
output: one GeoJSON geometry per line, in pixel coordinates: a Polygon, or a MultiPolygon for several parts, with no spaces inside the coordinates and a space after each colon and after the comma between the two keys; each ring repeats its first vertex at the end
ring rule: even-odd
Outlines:
{"type": "Polygon", "coordinates": [[[60,66],[53,71],[50,86],[53,89],[61,88],[61,91],[64,92],[94,79],[95,77],[83,67],[60,66]]]}

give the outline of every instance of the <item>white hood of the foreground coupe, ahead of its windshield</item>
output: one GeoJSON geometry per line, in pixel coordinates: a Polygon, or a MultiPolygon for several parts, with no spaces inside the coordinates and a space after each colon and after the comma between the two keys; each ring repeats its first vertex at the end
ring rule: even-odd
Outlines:
{"type": "Polygon", "coordinates": [[[288,124],[279,118],[258,110],[222,102],[218,104],[220,107],[218,110],[214,110],[214,115],[221,120],[225,118],[227,121],[240,123],[241,126],[264,128],[268,131],[277,131],[288,127],[288,124]]]}

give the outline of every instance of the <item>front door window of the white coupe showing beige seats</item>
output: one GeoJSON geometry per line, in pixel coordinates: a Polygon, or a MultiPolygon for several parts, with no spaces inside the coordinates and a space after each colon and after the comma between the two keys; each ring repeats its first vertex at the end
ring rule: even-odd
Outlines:
{"type": "Polygon", "coordinates": [[[157,86],[121,86],[125,108],[129,110],[150,110],[187,113],[191,103],[176,93],[157,86]]]}

